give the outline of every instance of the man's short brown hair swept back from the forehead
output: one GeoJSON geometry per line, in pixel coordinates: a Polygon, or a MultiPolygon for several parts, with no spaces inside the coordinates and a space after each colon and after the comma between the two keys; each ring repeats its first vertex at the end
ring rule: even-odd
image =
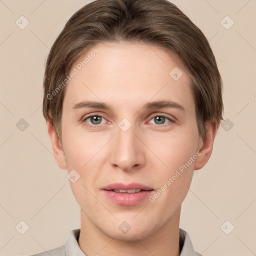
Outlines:
{"type": "Polygon", "coordinates": [[[191,78],[199,134],[205,136],[210,120],[216,120],[218,128],[223,119],[222,80],[202,31],[167,0],[95,0],[69,18],[46,61],[43,116],[60,139],[68,72],[81,54],[104,41],[142,42],[174,53],[191,78]]]}

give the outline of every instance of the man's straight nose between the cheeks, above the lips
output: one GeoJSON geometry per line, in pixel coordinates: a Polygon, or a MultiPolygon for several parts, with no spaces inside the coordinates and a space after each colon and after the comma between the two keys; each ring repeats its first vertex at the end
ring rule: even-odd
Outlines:
{"type": "Polygon", "coordinates": [[[144,148],[140,133],[134,125],[123,131],[117,126],[110,151],[110,163],[123,171],[133,171],[141,168],[145,162],[144,148]]]}

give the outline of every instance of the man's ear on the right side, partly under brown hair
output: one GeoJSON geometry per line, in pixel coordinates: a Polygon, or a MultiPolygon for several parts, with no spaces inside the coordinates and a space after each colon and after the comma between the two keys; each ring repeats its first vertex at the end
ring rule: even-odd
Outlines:
{"type": "Polygon", "coordinates": [[[209,160],[213,141],[216,135],[217,122],[212,120],[206,124],[206,135],[204,138],[200,137],[200,145],[198,151],[201,153],[198,158],[195,160],[194,169],[198,170],[202,168],[206,162],[209,160]]]}

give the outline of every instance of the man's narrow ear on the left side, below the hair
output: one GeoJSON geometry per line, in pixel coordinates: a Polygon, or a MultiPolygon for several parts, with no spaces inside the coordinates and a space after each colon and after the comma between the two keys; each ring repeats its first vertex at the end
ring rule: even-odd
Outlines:
{"type": "Polygon", "coordinates": [[[61,169],[67,169],[64,151],[62,149],[60,139],[57,136],[50,120],[47,121],[47,128],[55,160],[61,169]]]}

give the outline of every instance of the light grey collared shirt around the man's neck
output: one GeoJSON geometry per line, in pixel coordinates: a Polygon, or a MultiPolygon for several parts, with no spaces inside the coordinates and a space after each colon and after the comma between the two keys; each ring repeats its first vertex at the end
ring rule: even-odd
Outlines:
{"type": "MultiPolygon", "coordinates": [[[[77,242],[79,234],[80,228],[72,229],[69,231],[64,245],[31,256],[86,256],[77,242]]],[[[182,248],[179,256],[202,256],[194,251],[188,233],[181,228],[179,228],[179,246],[182,248]]]]}

